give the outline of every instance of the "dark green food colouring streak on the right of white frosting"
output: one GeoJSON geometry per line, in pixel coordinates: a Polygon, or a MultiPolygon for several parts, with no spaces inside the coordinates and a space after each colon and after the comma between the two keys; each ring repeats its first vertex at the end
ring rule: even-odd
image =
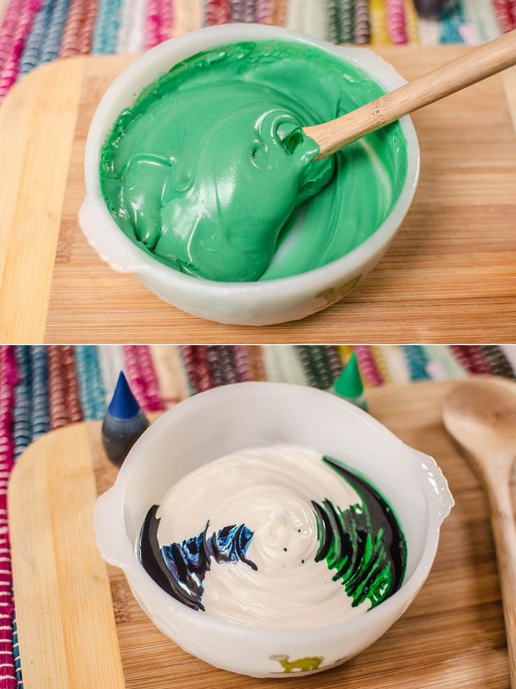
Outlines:
{"type": "Polygon", "coordinates": [[[318,526],[315,561],[326,560],[334,582],[344,584],[353,607],[377,606],[401,587],[407,543],[393,509],[365,479],[332,459],[322,461],[347,481],[361,503],[340,509],[330,500],[312,502],[318,526]]]}

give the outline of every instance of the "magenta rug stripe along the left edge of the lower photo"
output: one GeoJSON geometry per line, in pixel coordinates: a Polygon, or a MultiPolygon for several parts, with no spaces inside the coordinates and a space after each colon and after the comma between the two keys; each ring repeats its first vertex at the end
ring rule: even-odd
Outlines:
{"type": "MultiPolygon", "coordinates": [[[[13,469],[13,438],[11,434],[12,414],[15,403],[15,384],[18,373],[14,358],[13,347],[0,347],[0,471],[11,474],[13,469]]],[[[4,481],[2,481],[4,483],[4,481]]],[[[7,516],[7,495],[5,491],[0,493],[0,516],[7,516]]],[[[0,549],[10,550],[8,531],[2,533],[0,528],[0,549]]],[[[11,575],[11,561],[1,563],[0,574],[0,610],[2,615],[10,615],[13,619],[14,601],[11,593],[13,577],[11,575]],[[6,593],[4,593],[4,590],[6,593]]],[[[8,620],[8,618],[4,618],[8,620]]],[[[2,624],[8,627],[8,624],[2,624]]],[[[15,667],[13,657],[13,631],[12,629],[0,629],[1,663],[5,667],[0,668],[0,689],[15,689],[15,667]]]]}

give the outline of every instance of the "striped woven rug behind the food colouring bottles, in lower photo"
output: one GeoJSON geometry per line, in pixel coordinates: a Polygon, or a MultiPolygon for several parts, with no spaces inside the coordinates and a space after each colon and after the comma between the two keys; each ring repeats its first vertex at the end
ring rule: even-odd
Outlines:
{"type": "Polygon", "coordinates": [[[331,386],[355,350],[365,386],[495,373],[516,378],[516,345],[76,345],[0,347],[0,689],[22,687],[7,522],[16,459],[41,434],[102,419],[124,370],[145,411],[217,385],[331,386]]]}

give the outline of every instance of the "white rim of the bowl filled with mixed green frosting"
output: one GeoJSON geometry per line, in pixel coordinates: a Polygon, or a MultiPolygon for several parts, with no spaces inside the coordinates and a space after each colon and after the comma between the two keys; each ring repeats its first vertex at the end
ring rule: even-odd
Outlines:
{"type": "MultiPolygon", "coordinates": [[[[400,119],[402,133],[407,142],[407,173],[400,196],[398,196],[391,212],[376,231],[353,250],[326,265],[303,273],[252,282],[221,282],[199,279],[176,271],[158,261],[154,256],[145,253],[128,236],[125,236],[107,210],[100,190],[100,147],[114,124],[111,116],[112,104],[119,100],[127,102],[128,84],[138,81],[149,83],[149,79],[142,79],[142,74],[147,73],[149,68],[164,62],[170,53],[175,55],[174,58],[171,58],[171,63],[177,64],[186,56],[194,55],[210,47],[243,40],[274,38],[315,46],[337,55],[344,61],[352,62],[377,81],[386,91],[392,91],[406,83],[392,65],[367,48],[335,46],[327,41],[320,41],[289,29],[260,24],[235,23],[204,27],[164,41],[147,53],[143,53],[121,74],[118,74],[104,93],[93,115],[86,140],[84,158],[86,197],[79,210],[79,222],[90,245],[112,268],[119,272],[130,272],[142,277],[152,273],[162,283],[166,283],[168,288],[189,290],[192,295],[212,295],[214,297],[245,295],[248,297],[250,290],[252,290],[256,295],[272,296],[280,290],[283,297],[289,297],[297,295],[299,288],[307,282],[318,283],[324,288],[327,283],[338,281],[343,276],[350,277],[358,274],[372,257],[385,250],[392,241],[412,203],[419,180],[419,142],[409,116],[400,119]],[[177,55],[182,55],[182,58],[177,57],[177,55]],[[381,72],[381,75],[378,72],[381,72]],[[102,230],[99,229],[101,226],[102,230]],[[106,233],[109,233],[109,239],[107,239],[106,233]],[[111,243],[109,248],[107,248],[107,241],[111,243]]],[[[161,70],[157,72],[157,74],[160,73],[162,73],[161,70]]],[[[133,100],[140,91],[141,88],[138,88],[137,93],[132,92],[133,100]]],[[[121,109],[121,107],[116,108],[117,116],[121,109]]]]}

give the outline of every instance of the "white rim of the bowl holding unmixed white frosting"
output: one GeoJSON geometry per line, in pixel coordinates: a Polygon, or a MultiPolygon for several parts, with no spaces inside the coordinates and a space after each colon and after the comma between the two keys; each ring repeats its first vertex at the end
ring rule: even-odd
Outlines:
{"type": "Polygon", "coordinates": [[[259,381],[240,382],[212,388],[185,399],[163,413],[163,415],[151,424],[149,429],[140,436],[140,439],[137,440],[130,450],[130,453],[125,458],[118,472],[114,485],[97,499],[94,521],[97,543],[99,544],[104,559],[123,570],[131,589],[137,595],[138,601],[145,600],[147,605],[147,598],[149,596],[154,598],[153,607],[159,608],[159,618],[161,620],[163,620],[163,615],[166,614],[167,618],[168,615],[170,615],[171,619],[181,618],[186,624],[198,624],[215,633],[236,634],[237,636],[240,634],[250,634],[256,636],[256,638],[263,639],[272,639],[276,636],[279,640],[296,638],[300,641],[306,641],[307,638],[313,638],[314,635],[316,636],[318,634],[341,635],[343,633],[360,633],[363,629],[367,629],[376,624],[381,626],[382,622],[385,623],[389,620],[392,622],[392,617],[398,610],[403,612],[412,602],[412,599],[428,576],[437,551],[440,526],[453,506],[454,499],[449,491],[447,479],[444,477],[444,474],[442,474],[440,467],[438,467],[433,457],[407,446],[389,429],[383,426],[381,422],[374,419],[374,417],[370,416],[367,412],[336,395],[306,385],[259,381]],[[128,531],[125,528],[125,498],[128,483],[133,473],[133,467],[135,467],[136,462],[138,462],[138,457],[145,454],[146,448],[154,442],[155,436],[160,434],[161,430],[167,427],[171,420],[172,422],[177,422],[182,415],[190,413],[192,409],[201,404],[213,405],[220,403],[220,398],[228,395],[245,395],[252,390],[259,392],[264,389],[269,390],[271,394],[274,394],[279,389],[283,391],[290,389],[290,392],[296,396],[299,396],[299,394],[306,395],[307,402],[310,402],[308,398],[313,398],[313,403],[317,403],[317,401],[321,402],[323,399],[322,396],[325,398],[325,403],[328,403],[329,399],[332,399],[333,403],[341,407],[343,413],[356,417],[357,422],[365,422],[372,432],[380,434],[385,441],[398,445],[400,450],[405,453],[408,451],[419,460],[418,462],[414,462],[414,464],[417,464],[416,470],[421,474],[420,484],[426,497],[426,544],[421,551],[421,556],[414,567],[414,571],[404,580],[400,589],[387,598],[386,601],[383,601],[379,606],[367,610],[367,615],[362,615],[353,620],[334,622],[313,629],[247,627],[244,624],[226,622],[216,617],[210,617],[210,615],[199,617],[198,611],[187,608],[163,591],[144,570],[137,557],[136,544],[131,542],[128,531]],[[107,515],[109,515],[109,517],[107,515]],[[105,523],[108,519],[109,526],[111,527],[111,533],[109,535],[106,533],[107,524],[105,523]],[[142,589],[145,591],[144,594],[140,594],[142,589]]]}

